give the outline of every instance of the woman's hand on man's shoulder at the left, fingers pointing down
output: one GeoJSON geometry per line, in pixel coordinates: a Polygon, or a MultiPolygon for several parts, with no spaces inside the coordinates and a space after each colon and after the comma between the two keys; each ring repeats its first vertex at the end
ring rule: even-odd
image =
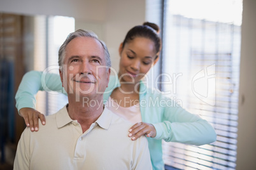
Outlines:
{"type": "Polygon", "coordinates": [[[20,108],[20,115],[23,117],[27,127],[30,127],[31,131],[39,130],[38,119],[41,120],[41,124],[45,125],[45,115],[41,114],[34,108],[20,108]]]}

